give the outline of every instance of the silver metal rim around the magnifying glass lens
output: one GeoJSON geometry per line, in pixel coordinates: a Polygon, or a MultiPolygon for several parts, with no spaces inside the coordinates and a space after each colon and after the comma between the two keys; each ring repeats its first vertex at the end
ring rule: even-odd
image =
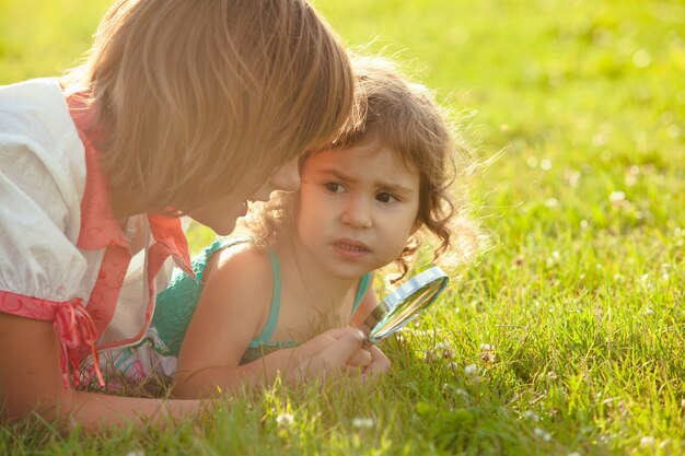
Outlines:
{"type": "Polygon", "coordinates": [[[402,285],[397,287],[393,290],[383,301],[381,301],[373,311],[369,314],[369,316],[364,319],[362,324],[362,331],[367,335],[367,339],[371,343],[375,343],[393,332],[402,329],[408,323],[410,323],[414,318],[416,318],[426,307],[430,306],[436,299],[443,292],[450,278],[448,274],[439,267],[432,266],[425,271],[411,277],[409,280],[404,282],[402,285]],[[374,329],[376,325],[385,318],[386,315],[392,313],[397,308],[399,304],[402,304],[407,297],[413,294],[421,291],[425,287],[440,281],[440,288],[433,293],[430,302],[422,307],[420,307],[419,312],[416,312],[415,315],[411,315],[409,318],[404,320],[400,325],[398,325],[393,330],[385,332],[382,337],[375,337],[374,329]]]}

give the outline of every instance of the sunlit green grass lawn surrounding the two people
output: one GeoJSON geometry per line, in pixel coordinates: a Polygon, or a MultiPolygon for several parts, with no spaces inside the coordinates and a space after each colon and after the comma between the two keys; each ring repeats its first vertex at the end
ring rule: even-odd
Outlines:
{"type": "MultiPolygon", "coordinates": [[[[685,453],[682,2],[316,4],[467,115],[478,161],[499,156],[473,187],[491,247],[384,342],[375,383],[275,386],[107,436],[4,426],[0,454],[685,453]]],[[[0,0],[0,83],[68,68],[104,8],[0,0]]]]}

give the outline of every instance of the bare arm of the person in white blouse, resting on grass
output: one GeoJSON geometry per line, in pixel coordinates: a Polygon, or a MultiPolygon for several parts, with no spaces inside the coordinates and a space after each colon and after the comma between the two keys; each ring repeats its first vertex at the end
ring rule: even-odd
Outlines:
{"type": "Polygon", "coordinates": [[[164,423],[166,417],[185,418],[201,407],[198,400],[115,397],[65,387],[60,344],[51,321],[0,313],[0,341],[3,420],[36,411],[50,421],[57,420],[65,431],[74,423],[96,430],[131,421],[164,423]]]}

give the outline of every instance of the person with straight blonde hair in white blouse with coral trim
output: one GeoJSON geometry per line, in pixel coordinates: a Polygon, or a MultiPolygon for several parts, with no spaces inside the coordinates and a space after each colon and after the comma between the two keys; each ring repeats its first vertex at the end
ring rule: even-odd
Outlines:
{"type": "MultiPolygon", "coordinates": [[[[193,273],[178,215],[229,234],[247,200],[297,189],[352,90],[305,0],[117,0],[83,65],[0,87],[1,417],[100,428],[197,410],[80,390],[81,362],[102,383],[98,354],[146,335],[172,264],[193,273]]],[[[339,329],[301,362],[368,366],[361,344],[339,329]]]]}

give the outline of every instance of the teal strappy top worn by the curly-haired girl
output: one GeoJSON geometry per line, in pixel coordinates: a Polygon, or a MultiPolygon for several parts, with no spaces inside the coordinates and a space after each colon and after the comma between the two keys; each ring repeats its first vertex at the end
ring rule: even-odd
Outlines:
{"type": "MultiPolygon", "coordinates": [[[[205,252],[193,259],[195,278],[178,271],[178,273],[172,278],[169,287],[156,295],[156,305],[150,326],[153,328],[152,330],[156,331],[159,337],[158,343],[155,343],[154,347],[158,352],[165,356],[178,356],[181,344],[188,330],[190,319],[197,308],[197,303],[202,292],[205,268],[209,264],[212,255],[223,248],[248,242],[248,237],[218,238],[207,247],[205,252]],[[160,344],[161,347],[159,347],[160,344]]],[[[292,340],[270,341],[280,314],[281,273],[280,262],[276,252],[271,248],[267,248],[267,253],[274,274],[274,293],[271,295],[269,316],[259,335],[249,341],[249,347],[243,355],[241,363],[254,361],[278,349],[295,346],[292,340]]],[[[351,312],[352,315],[357,312],[370,284],[371,273],[367,272],[359,281],[359,288],[355,295],[355,304],[351,312]]]]}

